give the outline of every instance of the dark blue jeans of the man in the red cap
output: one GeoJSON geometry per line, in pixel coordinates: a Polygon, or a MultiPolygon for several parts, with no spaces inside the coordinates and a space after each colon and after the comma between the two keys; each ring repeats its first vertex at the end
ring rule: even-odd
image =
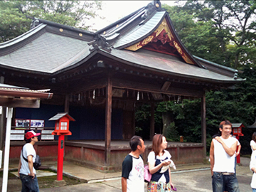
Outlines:
{"type": "Polygon", "coordinates": [[[32,176],[20,174],[22,190],[21,192],[39,192],[37,177],[32,179],[32,176]]]}

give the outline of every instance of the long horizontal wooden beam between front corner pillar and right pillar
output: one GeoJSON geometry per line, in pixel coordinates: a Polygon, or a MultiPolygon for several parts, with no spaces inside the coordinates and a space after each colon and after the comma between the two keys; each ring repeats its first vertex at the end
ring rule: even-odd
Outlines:
{"type": "Polygon", "coordinates": [[[188,97],[202,97],[203,91],[199,90],[188,90],[181,89],[176,87],[169,87],[168,90],[161,90],[161,87],[152,84],[146,84],[142,82],[130,82],[127,80],[117,80],[113,79],[113,87],[118,87],[122,89],[131,89],[131,90],[139,90],[144,92],[157,92],[171,95],[183,95],[188,97]]]}

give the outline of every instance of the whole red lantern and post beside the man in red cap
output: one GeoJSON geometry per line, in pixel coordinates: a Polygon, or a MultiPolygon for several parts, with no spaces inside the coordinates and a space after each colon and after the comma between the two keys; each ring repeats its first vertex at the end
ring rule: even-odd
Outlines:
{"type": "Polygon", "coordinates": [[[66,112],[58,113],[51,117],[49,121],[55,121],[55,130],[52,134],[58,135],[58,166],[57,166],[57,181],[63,180],[63,157],[64,157],[64,139],[65,135],[71,135],[69,131],[69,122],[75,121],[73,117],[66,112]]]}

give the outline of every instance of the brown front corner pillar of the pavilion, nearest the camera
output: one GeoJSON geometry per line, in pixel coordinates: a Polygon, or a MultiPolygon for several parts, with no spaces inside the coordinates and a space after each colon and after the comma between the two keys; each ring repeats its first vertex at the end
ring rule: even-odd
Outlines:
{"type": "Polygon", "coordinates": [[[110,166],[111,115],[112,114],[112,77],[107,77],[105,113],[105,165],[110,166]]]}

